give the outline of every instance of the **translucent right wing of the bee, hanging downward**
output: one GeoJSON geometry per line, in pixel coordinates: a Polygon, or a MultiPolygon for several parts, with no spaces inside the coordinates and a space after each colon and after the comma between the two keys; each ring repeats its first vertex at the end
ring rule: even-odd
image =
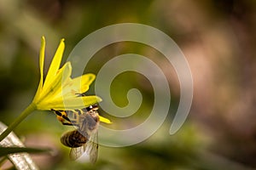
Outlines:
{"type": "Polygon", "coordinates": [[[89,155],[91,163],[96,162],[98,157],[98,132],[91,134],[85,153],[89,155]]]}

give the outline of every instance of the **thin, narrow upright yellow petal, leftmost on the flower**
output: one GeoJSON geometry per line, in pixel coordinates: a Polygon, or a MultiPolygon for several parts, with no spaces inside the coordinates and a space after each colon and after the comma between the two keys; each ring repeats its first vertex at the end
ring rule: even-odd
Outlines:
{"type": "Polygon", "coordinates": [[[45,53],[45,38],[44,36],[41,38],[41,48],[39,54],[39,68],[40,68],[40,82],[38,85],[38,91],[35,95],[35,99],[38,98],[38,95],[42,91],[43,81],[44,81],[44,53],[45,53]]]}

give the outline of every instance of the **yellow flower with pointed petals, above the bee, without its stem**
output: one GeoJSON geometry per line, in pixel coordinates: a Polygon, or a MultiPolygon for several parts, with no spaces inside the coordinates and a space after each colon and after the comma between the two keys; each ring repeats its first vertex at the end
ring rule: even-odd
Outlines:
{"type": "MultiPolygon", "coordinates": [[[[38,91],[32,101],[37,110],[74,110],[94,105],[102,101],[97,96],[84,96],[89,89],[91,82],[95,80],[94,74],[84,74],[81,77],[71,78],[72,66],[70,62],[65,63],[61,68],[61,59],[65,43],[61,39],[54,58],[49,66],[49,71],[44,80],[44,51],[45,39],[42,37],[39,54],[40,82],[38,91]]],[[[107,118],[100,116],[100,121],[110,123],[107,118]]]]}

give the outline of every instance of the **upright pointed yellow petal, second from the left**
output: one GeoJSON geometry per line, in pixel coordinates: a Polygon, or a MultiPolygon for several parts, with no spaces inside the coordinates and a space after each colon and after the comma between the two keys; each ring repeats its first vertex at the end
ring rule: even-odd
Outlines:
{"type": "Polygon", "coordinates": [[[52,59],[51,64],[49,65],[49,71],[48,71],[47,76],[45,78],[44,84],[49,83],[50,80],[53,77],[55,77],[55,75],[57,74],[57,71],[59,70],[60,65],[61,65],[61,59],[62,59],[62,55],[63,55],[63,52],[64,52],[64,48],[65,48],[64,39],[61,39],[60,45],[57,48],[55,56],[52,59]]]}

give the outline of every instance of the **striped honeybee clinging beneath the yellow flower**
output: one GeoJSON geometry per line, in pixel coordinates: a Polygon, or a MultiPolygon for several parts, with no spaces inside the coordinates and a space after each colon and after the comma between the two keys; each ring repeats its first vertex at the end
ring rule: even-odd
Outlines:
{"type": "Polygon", "coordinates": [[[97,105],[90,105],[81,110],[55,111],[57,119],[63,125],[73,125],[77,129],[64,133],[61,143],[70,147],[70,158],[78,159],[84,153],[95,163],[98,155],[99,114],[97,105]]]}

